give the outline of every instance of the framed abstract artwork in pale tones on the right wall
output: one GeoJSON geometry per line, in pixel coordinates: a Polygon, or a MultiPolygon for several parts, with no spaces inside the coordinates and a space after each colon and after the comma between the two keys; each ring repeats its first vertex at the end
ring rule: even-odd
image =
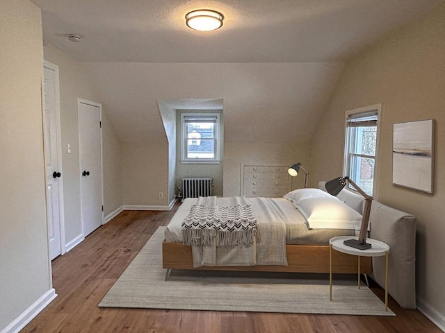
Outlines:
{"type": "Polygon", "coordinates": [[[392,144],[393,184],[432,193],[434,119],[394,123],[392,144]]]}

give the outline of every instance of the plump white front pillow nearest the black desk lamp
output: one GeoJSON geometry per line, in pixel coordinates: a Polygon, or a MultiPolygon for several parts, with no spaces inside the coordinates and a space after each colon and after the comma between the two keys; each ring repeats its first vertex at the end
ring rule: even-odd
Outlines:
{"type": "Polygon", "coordinates": [[[307,198],[294,203],[311,229],[360,230],[362,215],[334,197],[307,198]]]}

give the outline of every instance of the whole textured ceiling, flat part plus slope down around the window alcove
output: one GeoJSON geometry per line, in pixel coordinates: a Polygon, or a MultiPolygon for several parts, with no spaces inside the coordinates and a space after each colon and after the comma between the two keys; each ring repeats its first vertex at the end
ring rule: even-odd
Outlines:
{"type": "Polygon", "coordinates": [[[310,137],[344,62],[443,2],[31,1],[44,44],[83,62],[126,142],[165,138],[156,101],[187,109],[201,99],[223,99],[226,141],[310,137]],[[222,12],[223,27],[187,28],[186,13],[200,8],[222,12]]]}

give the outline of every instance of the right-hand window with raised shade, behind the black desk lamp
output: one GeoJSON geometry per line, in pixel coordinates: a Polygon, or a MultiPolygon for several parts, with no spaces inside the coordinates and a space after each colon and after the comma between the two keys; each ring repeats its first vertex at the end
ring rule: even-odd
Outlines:
{"type": "Polygon", "coordinates": [[[379,110],[380,106],[346,114],[345,175],[370,196],[375,185],[379,110]]]}

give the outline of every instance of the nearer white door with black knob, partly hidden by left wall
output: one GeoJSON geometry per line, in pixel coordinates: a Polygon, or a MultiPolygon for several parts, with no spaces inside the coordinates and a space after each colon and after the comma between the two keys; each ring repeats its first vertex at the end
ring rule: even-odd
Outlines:
{"type": "Polygon", "coordinates": [[[44,62],[43,137],[49,257],[65,253],[63,237],[63,183],[60,143],[60,102],[58,66],[44,62]]]}

